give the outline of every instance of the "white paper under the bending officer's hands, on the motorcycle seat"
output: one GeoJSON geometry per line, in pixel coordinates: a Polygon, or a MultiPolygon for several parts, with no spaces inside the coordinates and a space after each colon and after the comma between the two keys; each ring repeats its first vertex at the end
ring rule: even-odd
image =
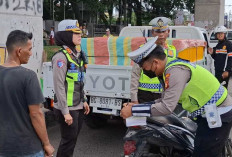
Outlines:
{"type": "Polygon", "coordinates": [[[129,117],[126,119],[126,126],[138,126],[138,125],[147,125],[147,117],[129,117]]]}

